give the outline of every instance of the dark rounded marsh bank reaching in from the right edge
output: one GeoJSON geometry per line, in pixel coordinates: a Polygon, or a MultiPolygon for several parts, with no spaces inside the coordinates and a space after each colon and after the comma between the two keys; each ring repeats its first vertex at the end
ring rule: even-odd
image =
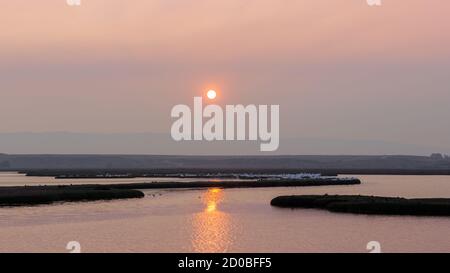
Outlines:
{"type": "Polygon", "coordinates": [[[272,199],[272,206],[282,208],[317,208],[331,212],[450,216],[450,198],[406,199],[361,195],[297,195],[272,199]]]}

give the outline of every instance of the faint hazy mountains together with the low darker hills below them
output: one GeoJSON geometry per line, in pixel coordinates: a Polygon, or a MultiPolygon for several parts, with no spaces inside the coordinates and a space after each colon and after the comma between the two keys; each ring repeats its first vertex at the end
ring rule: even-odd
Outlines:
{"type": "Polygon", "coordinates": [[[280,150],[277,151],[278,155],[273,153],[259,155],[258,151],[258,144],[248,141],[233,143],[175,142],[169,135],[154,133],[0,133],[0,170],[450,169],[448,157],[437,153],[432,154],[435,151],[449,152],[445,149],[380,141],[291,138],[281,140],[280,150]],[[221,154],[222,156],[210,156],[210,154],[221,154]],[[359,155],[343,156],[340,154],[359,155]]]}

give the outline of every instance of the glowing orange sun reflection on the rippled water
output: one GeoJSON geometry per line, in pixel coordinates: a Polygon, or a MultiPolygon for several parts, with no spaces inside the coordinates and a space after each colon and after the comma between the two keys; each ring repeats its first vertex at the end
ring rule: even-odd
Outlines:
{"type": "Polygon", "coordinates": [[[214,188],[201,196],[204,209],[192,220],[192,248],[195,252],[226,252],[231,243],[231,217],[219,210],[222,189],[214,188]]]}

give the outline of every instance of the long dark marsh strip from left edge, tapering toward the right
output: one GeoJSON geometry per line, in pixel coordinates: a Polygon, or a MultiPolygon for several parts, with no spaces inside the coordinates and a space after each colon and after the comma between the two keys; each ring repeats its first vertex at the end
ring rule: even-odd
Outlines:
{"type": "Polygon", "coordinates": [[[200,181],[108,185],[93,184],[0,187],[0,206],[37,205],[62,201],[94,201],[144,197],[144,194],[137,189],[300,187],[354,185],[360,183],[361,182],[358,179],[305,179],[296,181],[200,181]]]}

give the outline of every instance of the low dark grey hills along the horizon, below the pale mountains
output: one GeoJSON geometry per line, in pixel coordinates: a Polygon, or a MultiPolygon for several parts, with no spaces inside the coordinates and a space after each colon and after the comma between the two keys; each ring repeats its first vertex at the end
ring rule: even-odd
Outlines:
{"type": "Polygon", "coordinates": [[[296,169],[450,170],[433,156],[0,155],[0,170],[24,169],[296,169]]]}

